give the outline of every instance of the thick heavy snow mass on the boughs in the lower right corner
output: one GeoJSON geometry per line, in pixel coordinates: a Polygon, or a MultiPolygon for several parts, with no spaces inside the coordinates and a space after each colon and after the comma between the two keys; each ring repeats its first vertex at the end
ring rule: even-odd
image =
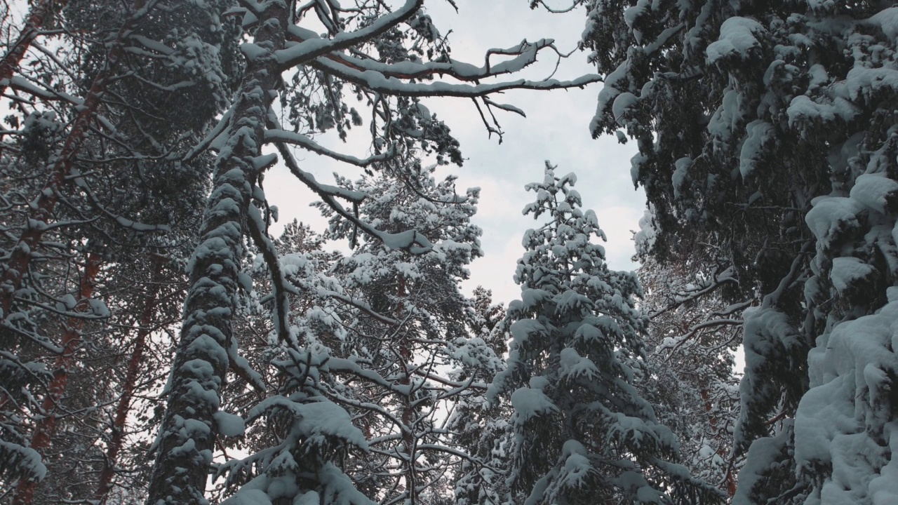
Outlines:
{"type": "MultiPolygon", "coordinates": [[[[811,389],[796,412],[796,461],[832,464],[823,503],[891,503],[898,492],[893,452],[889,373],[898,370],[898,303],[874,315],[839,323],[808,355],[811,389]],[[887,373],[888,372],[888,373],[887,373]]],[[[894,377],[894,376],[893,376],[894,377]]]]}

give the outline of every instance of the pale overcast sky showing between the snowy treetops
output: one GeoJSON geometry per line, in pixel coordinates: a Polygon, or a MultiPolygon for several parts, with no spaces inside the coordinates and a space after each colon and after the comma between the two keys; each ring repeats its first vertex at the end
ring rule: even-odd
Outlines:
{"type": "MultiPolygon", "coordinates": [[[[488,49],[512,47],[524,39],[554,39],[562,52],[569,52],[577,48],[585,22],[582,10],[567,14],[531,11],[526,0],[456,0],[456,4],[459,13],[445,0],[425,3],[436,27],[444,34],[453,31],[449,38],[453,58],[479,66],[488,49]]],[[[552,53],[545,54],[525,75],[527,78],[542,78],[551,73],[555,60],[550,58],[552,53]]],[[[562,62],[555,77],[568,79],[594,73],[585,59],[586,53],[575,52],[562,62]]],[[[519,297],[520,289],[512,279],[515,261],[524,252],[521,246],[524,230],[535,223],[532,217],[521,213],[524,205],[533,200],[533,193],[524,191],[524,184],[542,179],[545,160],[558,165],[559,175],[577,173],[577,190],[583,197],[584,207],[595,210],[600,226],[608,235],[608,243],[604,245],[611,268],[632,270],[637,266],[629,260],[633,254],[630,230],[638,229],[645,197],[641,190],[633,189],[629,175],[629,159],[635,154],[636,146],[633,143],[622,146],[613,137],[595,140],[590,137],[588,125],[600,89],[601,84],[594,84],[584,90],[520,91],[493,97],[494,101],[514,104],[527,114],[527,118],[521,118],[498,111],[502,112],[497,114],[497,119],[505,132],[501,145],[496,136],[488,137],[470,100],[425,102],[438,119],[445,120],[462,144],[464,165],[452,166],[446,173],[458,176],[456,185],[460,192],[468,187],[481,188],[474,222],[483,228],[481,242],[485,257],[471,264],[467,290],[481,284],[493,290],[496,301],[506,304],[519,297]]],[[[356,130],[361,135],[365,128],[356,130]]],[[[341,145],[328,136],[321,143],[354,155],[366,154],[367,143],[361,140],[353,143],[350,138],[348,144],[341,145]]],[[[318,155],[303,154],[301,163],[321,181],[332,180],[330,174],[334,171],[350,179],[359,175],[357,169],[318,155]]],[[[317,211],[308,207],[313,195],[285,170],[269,174],[266,193],[280,208],[282,224],[296,217],[320,230],[326,226],[317,211]]]]}

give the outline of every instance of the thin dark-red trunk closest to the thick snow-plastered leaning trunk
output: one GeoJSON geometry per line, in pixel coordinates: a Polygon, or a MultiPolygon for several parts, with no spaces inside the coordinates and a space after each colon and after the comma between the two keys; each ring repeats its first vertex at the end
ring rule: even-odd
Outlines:
{"type": "Polygon", "coordinates": [[[156,307],[159,306],[159,289],[163,281],[163,269],[158,258],[154,261],[153,277],[150,280],[150,288],[146,292],[144,300],[144,312],[140,315],[140,327],[134,341],[134,350],[128,359],[128,372],[125,382],[122,384],[119,405],[116,407],[115,421],[112,422],[112,436],[109,447],[106,449],[106,461],[100,473],[100,483],[93,494],[93,500],[102,505],[112,487],[112,477],[115,475],[115,465],[119,457],[121,447],[125,442],[125,423],[128,421],[128,412],[131,409],[131,399],[134,397],[134,387],[140,375],[140,365],[146,349],[146,337],[149,336],[153,324],[156,307]]]}

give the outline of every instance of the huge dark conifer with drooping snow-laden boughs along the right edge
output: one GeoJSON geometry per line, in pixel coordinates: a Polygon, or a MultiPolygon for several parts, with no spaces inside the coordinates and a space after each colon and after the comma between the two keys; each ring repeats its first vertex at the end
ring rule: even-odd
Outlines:
{"type": "Polygon", "coordinates": [[[867,391],[887,380],[832,395],[847,418],[809,420],[826,411],[818,388],[854,380],[830,339],[886,312],[893,284],[894,238],[876,230],[892,220],[894,6],[582,4],[584,44],[605,75],[591,128],[637,141],[631,173],[654,208],[652,254],[710,256],[732,266],[739,298],[759,298],[744,314],[734,441],[748,456],[735,502],[873,501],[885,481],[869,479],[891,456],[870,456],[867,439],[888,446],[893,416],[867,391]],[[858,421],[841,423],[849,418],[858,421]],[[840,448],[846,430],[858,449],[840,448]],[[858,460],[861,469],[841,463],[858,460]]]}

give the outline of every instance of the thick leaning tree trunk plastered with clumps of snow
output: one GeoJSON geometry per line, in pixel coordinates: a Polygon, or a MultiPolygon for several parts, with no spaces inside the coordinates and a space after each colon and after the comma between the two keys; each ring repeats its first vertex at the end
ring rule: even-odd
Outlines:
{"type": "Polygon", "coordinates": [[[168,404],[154,450],[148,505],[207,503],[204,498],[218,432],[216,413],[229,368],[242,239],[259,172],[269,106],[281,83],[274,51],[284,47],[288,9],[266,4],[216,160],[199,245],[190,260],[178,351],[168,404]]]}

